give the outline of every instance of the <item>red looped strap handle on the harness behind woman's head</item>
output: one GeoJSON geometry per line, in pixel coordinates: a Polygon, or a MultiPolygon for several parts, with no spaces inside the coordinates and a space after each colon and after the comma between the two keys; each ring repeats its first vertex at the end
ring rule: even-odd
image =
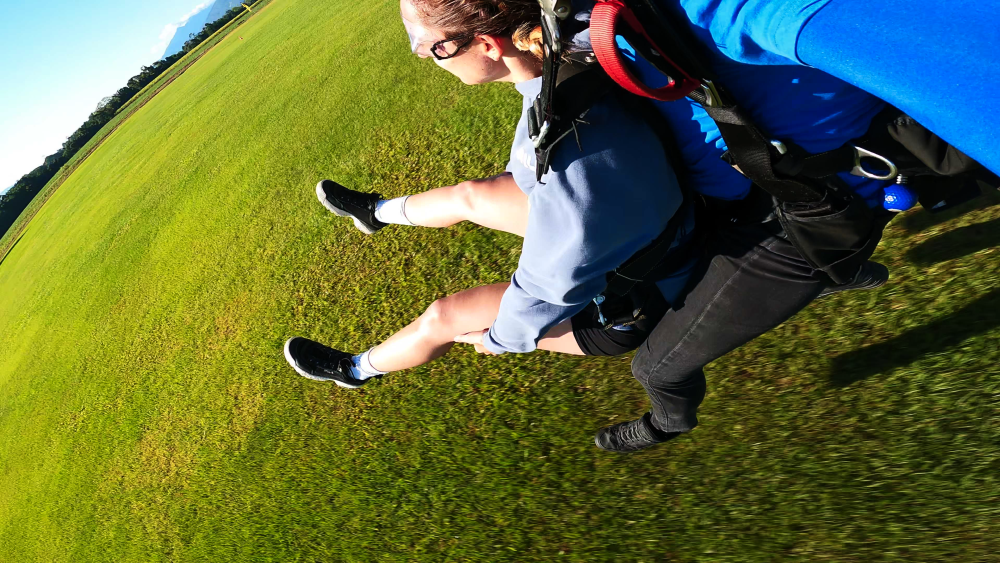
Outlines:
{"type": "Polygon", "coordinates": [[[642,24],[639,23],[638,18],[635,17],[632,10],[622,3],[621,0],[598,0],[597,5],[594,6],[593,11],[590,13],[590,44],[594,48],[594,54],[597,56],[598,62],[604,67],[608,76],[617,82],[619,86],[638,96],[645,96],[661,102],[672,102],[687,96],[701,86],[698,80],[692,78],[687,72],[684,72],[684,69],[678,67],[650,39],[646,30],[643,29],[642,24]],[[664,60],[670,63],[670,66],[677,69],[681,77],[680,81],[671,77],[670,83],[666,86],[662,88],[650,88],[629,72],[628,68],[625,67],[625,61],[622,59],[621,53],[618,51],[618,46],[615,44],[615,28],[619,18],[624,18],[625,23],[633,31],[642,35],[653,49],[664,60]]]}

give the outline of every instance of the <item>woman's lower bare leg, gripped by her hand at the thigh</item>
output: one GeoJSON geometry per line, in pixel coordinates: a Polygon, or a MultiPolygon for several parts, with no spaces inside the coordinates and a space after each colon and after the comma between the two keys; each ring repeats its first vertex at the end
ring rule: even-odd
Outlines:
{"type": "MultiPolygon", "coordinates": [[[[426,364],[444,356],[455,345],[455,337],[485,330],[500,311],[500,299],[508,282],[484,285],[438,299],[417,320],[372,348],[368,359],[384,372],[426,364]]],[[[538,343],[542,350],[583,355],[573,337],[570,321],[551,329],[538,343]]]]}

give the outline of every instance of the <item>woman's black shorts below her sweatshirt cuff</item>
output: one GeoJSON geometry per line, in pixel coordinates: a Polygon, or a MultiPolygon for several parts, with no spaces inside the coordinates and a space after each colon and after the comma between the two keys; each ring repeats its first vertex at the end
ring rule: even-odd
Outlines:
{"type": "Polygon", "coordinates": [[[646,341],[646,337],[659,324],[670,305],[658,289],[646,297],[641,318],[634,325],[604,328],[597,320],[597,305],[593,301],[587,308],[573,315],[573,336],[580,349],[588,356],[619,356],[631,352],[646,341]]]}

